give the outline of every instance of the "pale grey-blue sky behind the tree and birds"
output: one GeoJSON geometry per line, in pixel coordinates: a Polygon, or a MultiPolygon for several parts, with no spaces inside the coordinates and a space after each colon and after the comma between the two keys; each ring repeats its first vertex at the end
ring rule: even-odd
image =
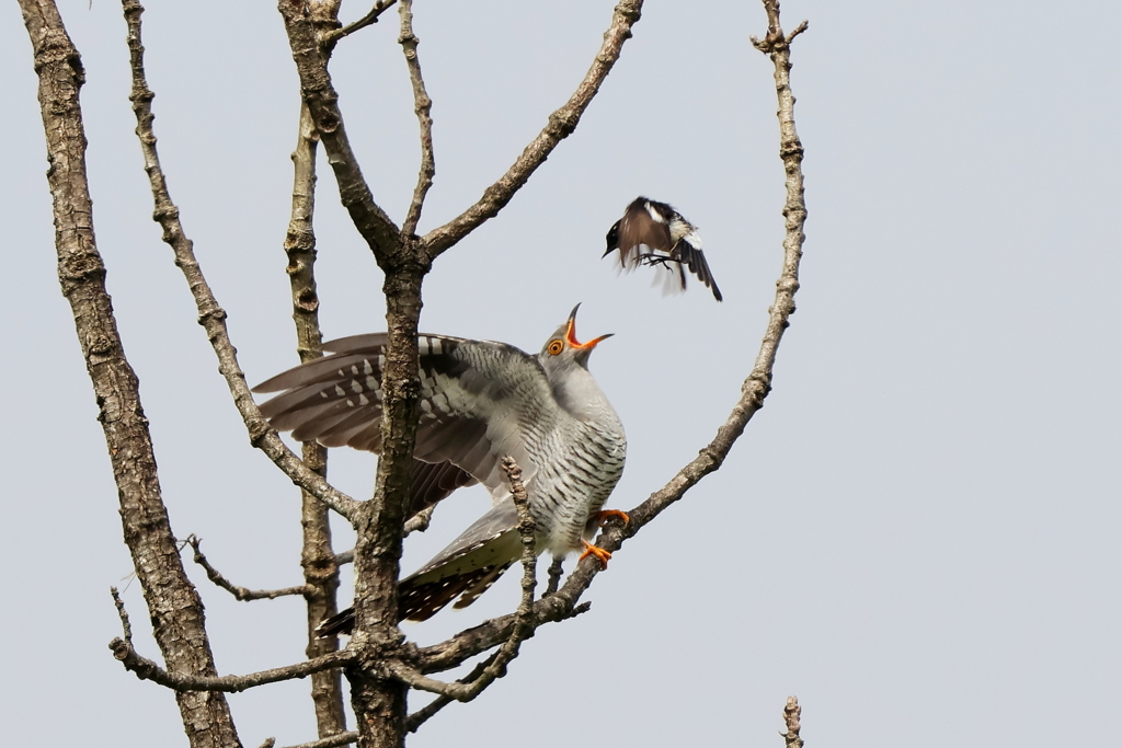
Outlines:
{"type": "MultiPolygon", "coordinates": [[[[298,583],[298,497],[249,446],[150,221],[119,6],[59,4],[88,71],[99,247],[173,527],[202,536],[236,583],[298,583]]],[[[30,46],[16,3],[3,8],[4,742],[184,745],[172,694],[105,647],[119,634],[108,588],[130,563],[55,276],[30,46]]],[[[569,96],[610,8],[417,2],[438,166],[422,231],[473,202],[569,96]]],[[[780,746],[789,694],[810,746],[1116,739],[1122,9],[783,11],[788,29],[810,20],[792,73],[810,215],[766,407],[725,469],[597,578],[590,613],[541,629],[506,678],[411,745],[528,730],[541,748],[780,746]]],[[[401,221],[417,138],[396,19],[344,40],[332,71],[367,178],[401,221]]],[[[711,437],[758,347],[783,225],[772,66],[747,41],[764,30],[757,2],[649,2],[577,133],[426,281],[429,332],[536,351],[583,302],[581,338],[616,333],[591,361],[629,440],[611,507],[637,505],[711,437]],[[637,194],[700,227],[724,304],[696,285],[663,298],[600,261],[637,194]]],[[[145,43],[173,198],[260,381],[296,360],[280,244],[298,99],[279,17],[264,1],[153,2],[145,43]]],[[[330,173],[320,186],[325,333],[380,330],[380,274],[330,173]]],[[[340,488],[369,493],[373,458],[331,460],[340,488]]],[[[404,565],[486,506],[477,491],[441,507],[404,565]]],[[[300,599],[239,603],[190,573],[222,673],[302,657],[300,599]]],[[[515,576],[408,636],[513,610],[515,576]]],[[[158,657],[136,583],[125,598],[141,653],[158,657]]],[[[307,690],[232,695],[243,742],[312,739],[307,690]]]]}

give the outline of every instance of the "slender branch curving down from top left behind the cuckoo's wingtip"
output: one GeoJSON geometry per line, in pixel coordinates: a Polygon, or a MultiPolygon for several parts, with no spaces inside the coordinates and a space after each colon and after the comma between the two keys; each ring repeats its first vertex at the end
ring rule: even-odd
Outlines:
{"type": "Polygon", "coordinates": [[[195,259],[193,244],[183,233],[183,225],[180,223],[180,209],[172,202],[164,170],[159,165],[151,111],[151,100],[156,94],[148,87],[145,77],[144,46],[140,41],[140,13],[144,12],[144,8],[136,0],[123,0],[122,4],[125,18],[128,21],[129,57],[132,68],[132,93],[129,95],[129,101],[132,102],[132,111],[137,117],[136,132],[140,139],[145,170],[148,173],[153,198],[156,203],[153,218],[164,230],[163,239],[175,253],[175,264],[187,280],[187,286],[191,288],[195,306],[199,310],[199,324],[206,331],[206,338],[211,341],[214,353],[218,355],[219,372],[226,378],[226,384],[233,396],[233,403],[246,424],[249,442],[265,452],[292,482],[314,495],[343,517],[350,518],[355,514],[358,502],[332,488],[323,478],[310,470],[280,441],[276,430],[269,426],[261,416],[261,412],[249,394],[246,375],[238,364],[237,349],[230,342],[230,334],[226,326],[226,312],[219,306],[210,286],[206,285],[206,279],[195,259]]]}

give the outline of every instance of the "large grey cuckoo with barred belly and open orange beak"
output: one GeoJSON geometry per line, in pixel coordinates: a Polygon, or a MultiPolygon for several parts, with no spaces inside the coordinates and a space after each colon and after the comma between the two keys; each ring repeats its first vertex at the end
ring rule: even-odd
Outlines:
{"type": "MultiPolygon", "coordinates": [[[[401,620],[426,620],[456,598],[457,608],[471,604],[521,557],[518,514],[500,465],[505,455],[522,468],[537,553],[583,550],[607,564],[610,554],[588,539],[605,516],[623,514],[600,508],[623,473],[627,441],[588,371],[592,349],[610,335],[578,342],[579,306],[537,355],[506,343],[417,336],[421,418],[411,510],[477,482],[490,491],[494,506],[401,581],[401,620]]],[[[254,388],[284,390],[261,405],[261,413],[297,440],[379,452],[387,344],[385,333],[324,343],[333,355],[254,388]]],[[[321,636],[351,630],[353,618],[351,609],[329,618],[321,636]]]]}

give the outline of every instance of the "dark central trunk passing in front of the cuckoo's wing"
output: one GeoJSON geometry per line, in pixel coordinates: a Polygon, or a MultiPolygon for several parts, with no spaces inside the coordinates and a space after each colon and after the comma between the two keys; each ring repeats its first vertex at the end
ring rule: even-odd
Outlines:
{"type": "Polygon", "coordinates": [[[358,541],[350,650],[357,654],[357,663],[347,669],[347,677],[359,724],[359,745],[398,746],[404,736],[406,689],[379,665],[385,653],[403,640],[396,618],[397,578],[416,435],[421,284],[431,261],[374,201],[343,127],[338,94],[327,68],[328,50],[318,44],[304,2],[280,0],[278,7],[300,75],[301,94],[334,170],[340,201],[386,274],[383,292],[389,345],[381,382],[381,455],[374,498],[360,505],[352,518],[358,541]]]}

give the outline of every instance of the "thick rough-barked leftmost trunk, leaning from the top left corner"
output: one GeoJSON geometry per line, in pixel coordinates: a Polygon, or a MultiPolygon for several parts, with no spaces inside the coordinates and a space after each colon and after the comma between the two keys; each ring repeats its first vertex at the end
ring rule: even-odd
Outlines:
{"type": "MultiPolygon", "coordinates": [[[[20,0],[19,4],[38,75],[58,280],[71,305],[93,385],[98,422],[117,484],[125,542],[165,662],[181,673],[214,673],[202,603],[176,552],[162,498],[139,382],[125,358],[112,302],[105,290],[105,267],[93,231],[85,128],[79,102],[79,91],[85,82],[82,58],[52,0],[20,0]]],[[[123,607],[118,610],[129,635],[128,616],[123,607]]],[[[177,702],[184,730],[194,748],[240,748],[223,696],[191,694],[177,698],[177,702]]]]}

